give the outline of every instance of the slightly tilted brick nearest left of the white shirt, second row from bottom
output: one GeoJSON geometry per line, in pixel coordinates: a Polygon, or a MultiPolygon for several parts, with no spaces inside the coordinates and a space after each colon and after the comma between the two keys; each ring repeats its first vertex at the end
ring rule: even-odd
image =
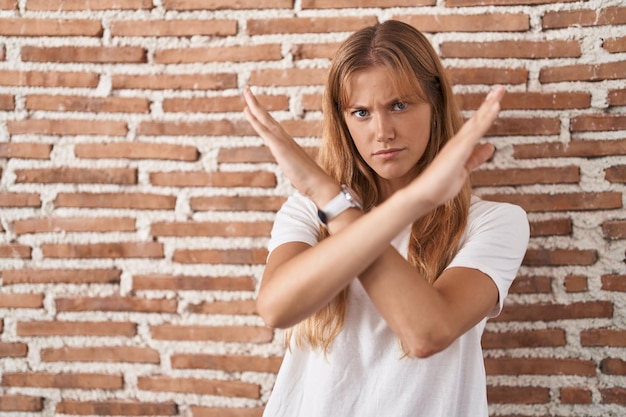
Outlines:
{"type": "Polygon", "coordinates": [[[260,398],[257,384],[200,378],[139,377],[137,387],[144,391],[181,392],[221,397],[260,398]]]}

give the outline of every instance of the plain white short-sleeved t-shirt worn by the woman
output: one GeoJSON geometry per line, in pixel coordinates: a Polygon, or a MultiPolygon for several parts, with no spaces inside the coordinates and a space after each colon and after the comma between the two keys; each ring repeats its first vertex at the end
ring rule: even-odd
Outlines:
{"type": "MultiPolygon", "coordinates": [[[[269,250],[318,242],[317,209],[295,194],[276,216],[269,250]]],[[[406,257],[410,228],[392,244],[406,257]]],[[[479,269],[498,287],[499,314],[517,274],[529,227],[518,206],[472,198],[461,248],[449,266],[479,269]]],[[[471,297],[468,294],[468,297],[471,297]]],[[[350,285],[344,326],[330,352],[291,343],[265,417],[486,417],[486,376],[480,339],[487,318],[445,350],[425,359],[403,356],[397,336],[358,279],[350,285]]]]}

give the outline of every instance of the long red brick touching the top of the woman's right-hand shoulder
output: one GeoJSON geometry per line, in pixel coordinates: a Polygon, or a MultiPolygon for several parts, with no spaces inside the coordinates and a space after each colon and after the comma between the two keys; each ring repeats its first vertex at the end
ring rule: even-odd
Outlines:
{"type": "Polygon", "coordinates": [[[609,210],[622,207],[622,194],[571,193],[571,194],[490,194],[486,200],[502,201],[523,207],[527,212],[609,210]]]}

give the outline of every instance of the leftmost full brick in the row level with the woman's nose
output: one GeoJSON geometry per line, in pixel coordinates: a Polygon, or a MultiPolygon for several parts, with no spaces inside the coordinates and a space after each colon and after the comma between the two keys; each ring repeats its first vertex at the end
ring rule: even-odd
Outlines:
{"type": "Polygon", "coordinates": [[[126,136],[126,122],[114,120],[9,120],[7,128],[12,135],[103,135],[126,136]]]}

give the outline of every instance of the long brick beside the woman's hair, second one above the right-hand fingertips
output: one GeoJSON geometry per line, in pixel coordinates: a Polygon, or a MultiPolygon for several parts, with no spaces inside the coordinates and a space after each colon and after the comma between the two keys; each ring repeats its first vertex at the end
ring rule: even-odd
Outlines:
{"type": "Polygon", "coordinates": [[[578,58],[577,41],[447,41],[440,45],[443,58],[578,58]]]}

